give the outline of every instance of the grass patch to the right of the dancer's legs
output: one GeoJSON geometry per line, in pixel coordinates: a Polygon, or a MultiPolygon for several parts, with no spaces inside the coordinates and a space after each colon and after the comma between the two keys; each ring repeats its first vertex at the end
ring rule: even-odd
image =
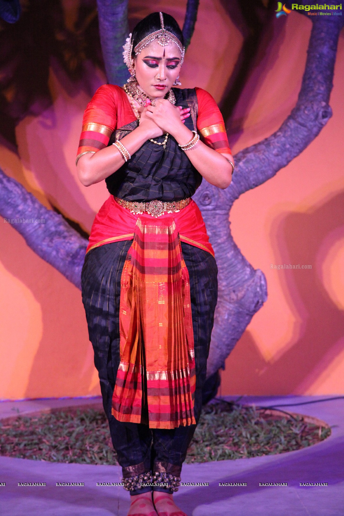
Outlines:
{"type": "Polygon", "coordinates": [[[186,462],[244,459],[306,448],[331,429],[306,423],[303,416],[281,415],[219,401],[203,408],[186,462]]]}

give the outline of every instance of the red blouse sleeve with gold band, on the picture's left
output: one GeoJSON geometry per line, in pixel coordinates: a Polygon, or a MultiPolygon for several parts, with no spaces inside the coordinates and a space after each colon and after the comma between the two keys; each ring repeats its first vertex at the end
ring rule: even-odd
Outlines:
{"type": "Polygon", "coordinates": [[[104,84],[87,104],[75,164],[83,154],[95,153],[107,146],[117,122],[117,88],[104,84]]]}

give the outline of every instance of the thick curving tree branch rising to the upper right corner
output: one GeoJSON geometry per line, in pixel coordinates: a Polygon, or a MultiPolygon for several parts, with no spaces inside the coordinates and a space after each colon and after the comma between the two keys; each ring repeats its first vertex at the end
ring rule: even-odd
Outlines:
{"type": "Polygon", "coordinates": [[[342,17],[312,17],[305,72],[296,106],[271,136],[236,155],[232,202],[272,178],[320,133],[332,116],[329,106],[342,17]]]}

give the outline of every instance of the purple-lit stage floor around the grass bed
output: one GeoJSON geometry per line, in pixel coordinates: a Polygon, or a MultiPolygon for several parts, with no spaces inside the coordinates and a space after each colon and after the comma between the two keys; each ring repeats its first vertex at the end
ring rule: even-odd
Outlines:
{"type": "MultiPolygon", "coordinates": [[[[330,396],[246,396],[241,403],[293,404],[330,396]]],[[[225,399],[236,399],[227,396],[225,399]]],[[[89,404],[96,399],[0,402],[0,417],[49,407],[89,404]]],[[[252,459],[185,464],[182,482],[209,486],[180,487],[176,503],[189,516],[342,516],[344,514],[344,399],[283,410],[317,417],[332,426],[325,441],[298,451],[252,459]],[[247,483],[224,487],[222,482],[247,483]],[[263,487],[259,483],[287,482],[263,487]],[[327,483],[301,487],[300,483],[327,483]]],[[[120,482],[119,466],[62,464],[0,457],[2,516],[125,516],[129,495],[122,487],[97,487],[120,482]],[[19,487],[18,482],[46,482],[45,487],[19,487]],[[84,482],[84,487],[57,487],[56,482],[84,482]]]]}

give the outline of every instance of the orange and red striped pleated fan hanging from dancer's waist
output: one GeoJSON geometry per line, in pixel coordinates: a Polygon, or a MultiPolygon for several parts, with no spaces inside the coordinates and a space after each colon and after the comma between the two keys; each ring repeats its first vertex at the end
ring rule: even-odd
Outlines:
{"type": "Polygon", "coordinates": [[[137,219],[121,277],[120,357],[112,398],[118,421],[195,424],[189,273],[173,217],[137,219]]]}

